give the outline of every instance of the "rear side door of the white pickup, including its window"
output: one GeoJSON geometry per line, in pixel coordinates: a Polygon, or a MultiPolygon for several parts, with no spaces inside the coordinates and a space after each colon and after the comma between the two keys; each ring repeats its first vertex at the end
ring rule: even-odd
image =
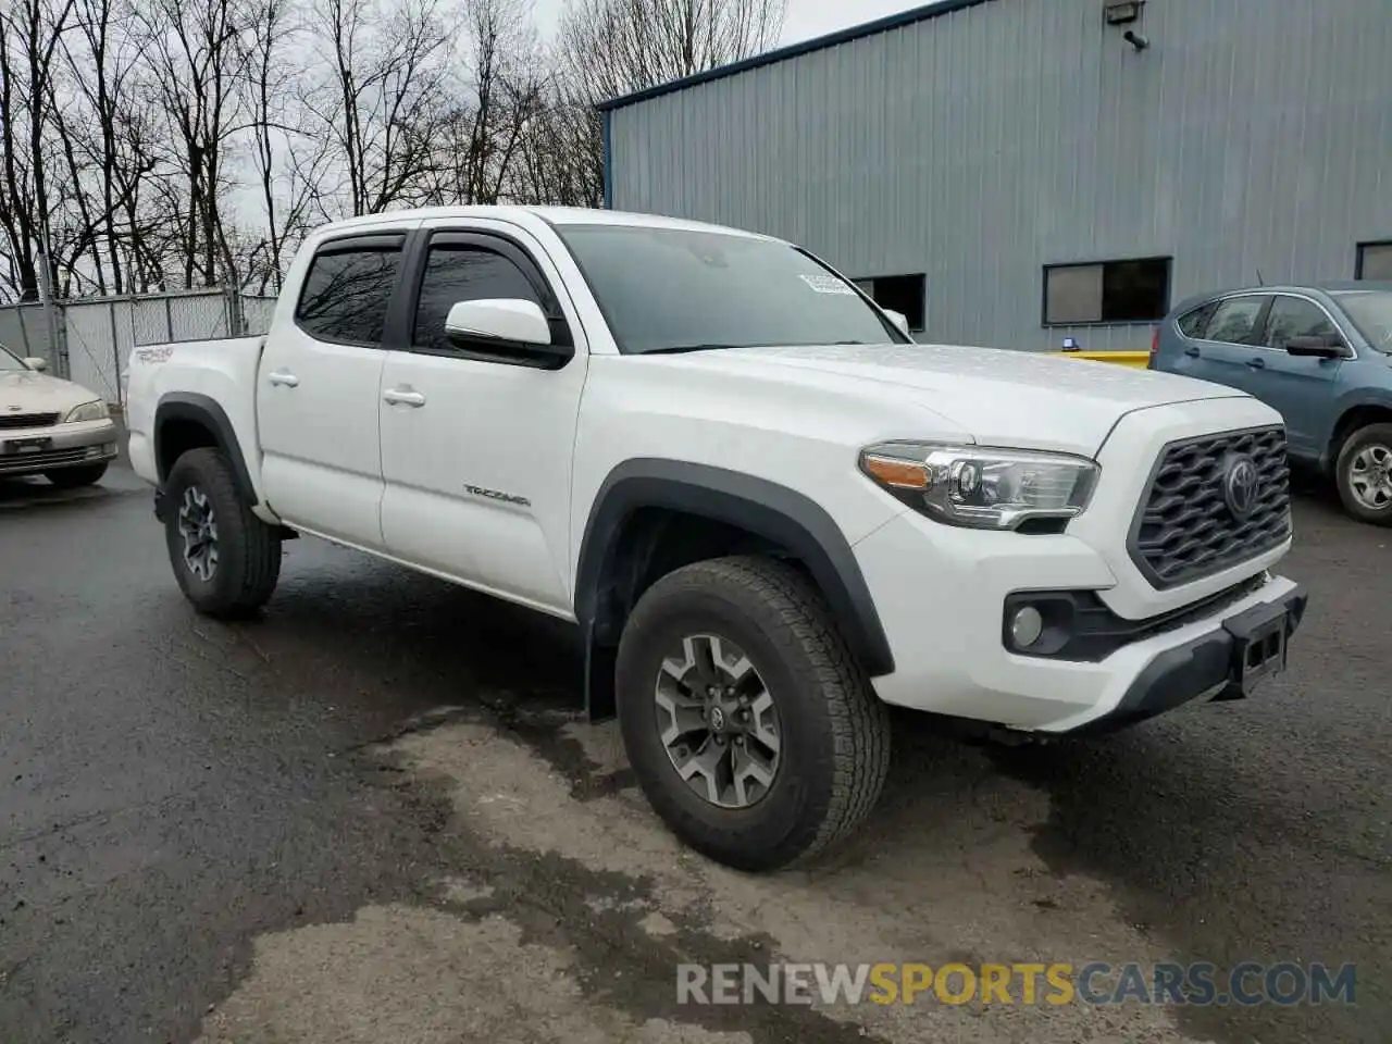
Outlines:
{"type": "Polygon", "coordinates": [[[381,547],[377,405],[405,239],[393,230],[322,244],[294,313],[277,315],[258,372],[270,507],[298,529],[367,548],[381,547]]]}

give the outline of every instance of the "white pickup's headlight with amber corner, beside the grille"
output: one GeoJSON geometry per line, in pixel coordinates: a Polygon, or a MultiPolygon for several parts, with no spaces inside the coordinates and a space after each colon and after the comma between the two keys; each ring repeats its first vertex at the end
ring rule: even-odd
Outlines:
{"type": "Polygon", "coordinates": [[[860,470],[938,522],[1016,529],[1029,519],[1066,522],[1082,514],[1098,468],[1068,454],[881,443],[860,451],[860,470]]]}

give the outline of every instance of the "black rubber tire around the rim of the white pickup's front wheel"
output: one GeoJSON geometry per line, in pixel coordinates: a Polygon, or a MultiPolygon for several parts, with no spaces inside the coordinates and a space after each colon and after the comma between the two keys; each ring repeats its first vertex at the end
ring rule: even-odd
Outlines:
{"type": "Polygon", "coordinates": [[[653,809],[682,841],[727,866],[807,863],[849,835],[884,788],[888,709],[816,587],[785,562],[718,558],[657,580],[625,625],[615,688],[624,746],[653,809]],[[743,650],[781,720],[782,763],[749,807],[720,807],[695,793],[661,741],[654,686],[664,657],[702,632],[743,650]]]}

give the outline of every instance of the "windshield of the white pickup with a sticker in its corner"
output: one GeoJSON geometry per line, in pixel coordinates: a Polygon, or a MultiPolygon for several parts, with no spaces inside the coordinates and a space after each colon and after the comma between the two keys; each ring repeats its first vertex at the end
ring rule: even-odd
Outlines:
{"type": "Polygon", "coordinates": [[[643,226],[557,231],[621,352],[909,341],[853,285],[786,244],[643,226]]]}

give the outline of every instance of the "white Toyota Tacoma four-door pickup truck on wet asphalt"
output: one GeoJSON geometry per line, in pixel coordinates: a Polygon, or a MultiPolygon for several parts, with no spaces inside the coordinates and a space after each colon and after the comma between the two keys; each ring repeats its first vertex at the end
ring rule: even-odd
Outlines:
{"type": "Polygon", "coordinates": [[[1129,725],[1247,695],[1306,607],[1268,406],[915,344],[806,251],[689,221],[330,224],[266,337],[136,349],[128,422],[199,611],[255,611],[305,533],[574,621],[654,809],[750,870],[869,813],[887,704],[1129,725]]]}

